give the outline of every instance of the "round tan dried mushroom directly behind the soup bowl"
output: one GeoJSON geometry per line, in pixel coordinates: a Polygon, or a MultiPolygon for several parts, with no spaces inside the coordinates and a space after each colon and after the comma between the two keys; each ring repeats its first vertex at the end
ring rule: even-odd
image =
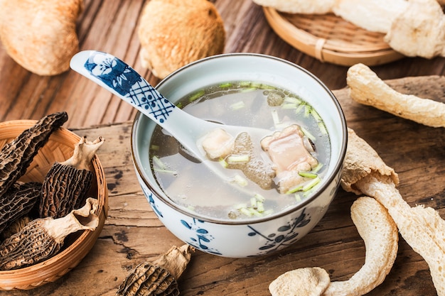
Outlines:
{"type": "Polygon", "coordinates": [[[151,0],[139,19],[141,63],[163,78],[190,62],[223,53],[223,18],[207,0],[151,0]]]}

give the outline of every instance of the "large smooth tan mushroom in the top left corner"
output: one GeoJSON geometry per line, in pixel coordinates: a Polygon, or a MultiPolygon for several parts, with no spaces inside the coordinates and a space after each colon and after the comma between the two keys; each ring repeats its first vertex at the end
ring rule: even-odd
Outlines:
{"type": "Polygon", "coordinates": [[[75,31],[82,0],[0,1],[0,39],[26,70],[58,75],[79,51],[75,31]]]}

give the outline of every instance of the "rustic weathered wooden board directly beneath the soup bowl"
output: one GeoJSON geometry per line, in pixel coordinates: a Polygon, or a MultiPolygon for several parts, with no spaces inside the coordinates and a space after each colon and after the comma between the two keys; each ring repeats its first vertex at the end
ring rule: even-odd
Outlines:
{"type": "MultiPolygon", "coordinates": [[[[400,92],[445,103],[445,78],[410,77],[388,80],[400,92]]],[[[399,173],[399,190],[412,206],[424,204],[445,216],[445,131],[397,118],[353,102],[348,89],[333,92],[348,126],[377,150],[387,165],[399,173]]],[[[80,136],[103,136],[98,153],[109,187],[109,212],[92,251],[55,283],[8,295],[114,295],[129,270],[152,261],[170,246],[181,245],[161,222],[141,192],[134,173],[130,148],[131,122],[74,128],[80,136]]],[[[181,295],[267,296],[268,286],[282,273],[295,268],[320,266],[332,280],[346,280],[365,261],[365,246],[350,219],[355,194],[339,190],[326,216],[303,239],[278,253],[259,258],[232,259],[193,253],[179,280],[181,295]]],[[[234,242],[235,243],[235,242],[234,242]]],[[[395,265],[382,285],[368,295],[436,295],[427,263],[400,238],[395,265]]]]}

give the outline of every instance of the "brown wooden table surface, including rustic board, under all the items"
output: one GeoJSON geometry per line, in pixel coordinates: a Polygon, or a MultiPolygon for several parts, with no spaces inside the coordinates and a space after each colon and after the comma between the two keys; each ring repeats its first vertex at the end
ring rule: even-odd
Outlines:
{"type": "MultiPolygon", "coordinates": [[[[81,49],[104,50],[133,65],[151,84],[159,79],[139,62],[136,34],[147,1],[86,0],[77,23],[81,49]]],[[[226,53],[253,52],[296,62],[318,76],[338,97],[348,126],[377,150],[399,173],[404,199],[424,204],[445,217],[445,131],[397,118],[352,102],[345,77],[348,67],[331,65],[300,53],[269,27],[262,8],[251,0],[213,1],[227,31],[226,53]]],[[[445,58],[406,57],[372,67],[400,92],[445,102],[445,58]],[[422,77],[429,75],[439,75],[422,77]],[[417,77],[400,79],[403,77],[417,77]],[[424,82],[432,82],[423,87],[424,82]]],[[[0,121],[40,119],[68,111],[65,127],[88,138],[104,136],[98,153],[109,189],[109,212],[97,243],[84,260],[55,283],[1,295],[114,295],[136,264],[154,260],[181,245],[151,211],[139,187],[130,153],[135,111],[129,105],[73,71],[39,77],[18,66],[0,47],[0,121]]],[[[288,270],[320,266],[331,280],[346,280],[363,265],[365,247],[350,219],[354,194],[339,190],[322,221],[303,239],[278,253],[233,259],[193,253],[179,280],[181,295],[270,295],[268,285],[288,270]]],[[[385,282],[369,295],[436,295],[429,269],[400,238],[395,265],[385,282]]]]}

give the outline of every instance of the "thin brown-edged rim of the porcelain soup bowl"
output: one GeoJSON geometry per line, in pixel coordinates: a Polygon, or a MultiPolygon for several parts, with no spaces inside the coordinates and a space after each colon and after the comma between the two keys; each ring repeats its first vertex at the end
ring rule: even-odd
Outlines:
{"type": "Polygon", "coordinates": [[[176,204],[175,202],[173,202],[168,197],[164,198],[163,194],[159,194],[159,192],[158,192],[161,189],[154,188],[146,180],[146,177],[144,175],[144,169],[140,168],[139,162],[136,160],[136,152],[135,152],[136,148],[134,148],[134,146],[135,146],[134,145],[134,141],[136,141],[136,136],[134,136],[134,133],[136,131],[136,125],[137,125],[137,123],[139,121],[139,118],[141,116],[144,116],[144,114],[141,114],[141,112],[139,112],[139,111],[136,113],[136,116],[134,116],[134,121],[133,121],[133,124],[132,124],[132,133],[131,133],[131,140],[130,140],[131,141],[131,152],[132,152],[132,158],[133,158],[133,162],[134,162],[134,167],[138,171],[139,176],[144,181],[146,187],[148,187],[149,190],[151,190],[151,192],[156,194],[156,197],[161,199],[164,204],[168,205],[168,207],[171,207],[171,208],[175,209],[178,212],[181,212],[182,214],[184,214],[186,216],[191,216],[193,218],[200,219],[201,221],[207,221],[207,222],[211,222],[213,224],[226,224],[226,225],[257,224],[257,223],[262,223],[264,221],[277,219],[277,218],[282,217],[282,216],[286,216],[287,214],[290,214],[291,212],[296,212],[299,209],[302,209],[302,208],[306,207],[307,204],[310,204],[311,202],[313,202],[314,199],[317,199],[318,196],[321,194],[321,192],[324,192],[326,190],[326,187],[328,187],[328,185],[330,185],[332,182],[334,182],[334,179],[335,179],[335,177],[337,175],[338,170],[341,170],[342,167],[343,167],[343,160],[344,160],[345,155],[346,155],[346,146],[347,146],[347,143],[348,143],[348,129],[347,129],[347,126],[346,126],[346,119],[345,119],[345,115],[343,113],[343,109],[341,108],[341,105],[338,102],[338,99],[331,92],[331,89],[328,89],[328,87],[326,87],[326,85],[323,82],[321,82],[321,80],[318,77],[313,75],[311,72],[309,72],[309,70],[306,70],[304,67],[301,67],[300,65],[296,65],[294,62],[290,62],[288,60],[284,60],[281,57],[274,57],[272,55],[265,55],[265,54],[262,54],[262,53],[223,53],[223,54],[220,54],[220,55],[212,55],[210,57],[204,57],[203,59],[191,62],[191,63],[189,63],[189,64],[179,68],[178,70],[175,70],[175,71],[171,72],[171,74],[167,75],[165,78],[163,78],[163,80],[161,80],[161,82],[159,82],[156,85],[155,89],[158,89],[159,87],[161,87],[161,85],[166,83],[166,81],[168,81],[173,75],[176,75],[176,73],[181,72],[183,70],[186,70],[189,67],[194,67],[195,65],[198,65],[198,64],[200,64],[202,62],[206,62],[208,60],[220,59],[220,58],[223,58],[223,57],[230,57],[230,56],[263,57],[263,58],[268,58],[268,59],[271,59],[271,60],[277,60],[278,62],[284,62],[287,65],[291,65],[292,67],[296,67],[298,70],[304,72],[306,75],[309,75],[315,82],[317,82],[326,91],[326,94],[329,95],[329,97],[331,98],[332,102],[335,104],[336,109],[337,109],[338,114],[340,115],[340,119],[341,119],[341,131],[342,131],[342,133],[344,135],[343,138],[341,139],[340,155],[339,155],[338,159],[336,160],[336,163],[334,165],[333,171],[331,172],[330,175],[327,175],[325,177],[325,181],[324,181],[323,185],[318,189],[317,192],[315,192],[315,194],[312,194],[309,198],[304,199],[304,201],[299,202],[298,204],[295,204],[295,205],[289,207],[288,209],[285,209],[284,211],[279,211],[279,212],[271,214],[269,216],[255,217],[255,218],[250,218],[250,219],[239,219],[239,220],[233,220],[233,221],[230,221],[230,220],[219,220],[219,219],[212,218],[210,216],[204,216],[204,215],[200,215],[198,213],[187,211],[183,207],[181,207],[178,204],[176,204]]]}

